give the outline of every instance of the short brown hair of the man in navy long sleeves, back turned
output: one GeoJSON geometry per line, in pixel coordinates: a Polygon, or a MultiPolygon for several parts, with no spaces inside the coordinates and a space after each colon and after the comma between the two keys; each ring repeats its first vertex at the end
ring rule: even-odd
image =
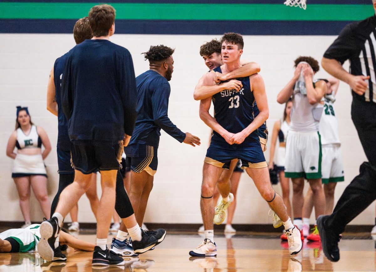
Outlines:
{"type": "Polygon", "coordinates": [[[111,5],[93,6],[89,11],[89,24],[93,36],[107,36],[115,21],[115,9],[111,5]]]}

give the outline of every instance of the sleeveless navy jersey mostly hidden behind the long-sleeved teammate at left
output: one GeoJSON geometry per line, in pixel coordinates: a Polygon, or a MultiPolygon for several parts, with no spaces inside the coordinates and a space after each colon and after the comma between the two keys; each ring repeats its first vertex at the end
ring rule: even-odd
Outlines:
{"type": "Polygon", "coordinates": [[[68,121],[65,118],[63,108],[61,106],[61,78],[64,70],[67,54],[57,58],[53,66],[53,81],[55,83],[55,99],[58,104],[58,145],[61,150],[69,151],[71,149],[70,139],[68,135],[68,121]]]}

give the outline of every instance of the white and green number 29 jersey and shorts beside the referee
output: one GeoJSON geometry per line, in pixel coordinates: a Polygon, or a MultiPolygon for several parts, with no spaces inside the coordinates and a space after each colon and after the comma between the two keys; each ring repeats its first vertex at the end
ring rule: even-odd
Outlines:
{"type": "Polygon", "coordinates": [[[342,151],[338,133],[338,120],[334,112],[334,95],[325,97],[324,112],[320,120],[322,182],[344,181],[342,151]]]}

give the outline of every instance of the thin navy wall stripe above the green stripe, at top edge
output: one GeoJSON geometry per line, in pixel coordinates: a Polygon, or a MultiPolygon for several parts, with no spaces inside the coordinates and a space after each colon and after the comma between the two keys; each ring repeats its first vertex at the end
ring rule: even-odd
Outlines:
{"type": "MultiPolygon", "coordinates": [[[[2,1],[0,1],[2,2],[2,1]]],[[[4,2],[36,2],[36,3],[195,3],[195,4],[214,4],[213,0],[110,0],[108,2],[96,2],[95,0],[17,0],[17,1],[4,1],[4,2]]],[[[281,4],[285,0],[237,0],[236,4],[281,4]]],[[[229,4],[228,0],[215,0],[215,4],[229,4]]],[[[233,3],[235,4],[235,3],[233,3]]],[[[347,5],[371,5],[371,0],[307,0],[307,6],[310,4],[347,4],[347,5]]]]}

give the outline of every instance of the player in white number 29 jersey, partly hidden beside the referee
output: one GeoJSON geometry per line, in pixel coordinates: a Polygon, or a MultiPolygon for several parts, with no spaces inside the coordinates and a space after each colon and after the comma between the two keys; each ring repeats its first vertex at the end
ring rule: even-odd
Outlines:
{"type": "MultiPolygon", "coordinates": [[[[336,78],[321,79],[326,82],[327,92],[324,101],[324,111],[320,119],[320,135],[322,148],[321,174],[325,194],[324,214],[331,214],[334,207],[334,190],[337,182],[344,181],[342,151],[338,133],[338,120],[334,111],[335,95],[340,85],[336,78]]],[[[303,236],[309,241],[320,241],[317,225],[309,232],[309,217],[313,208],[312,190],[308,189],[303,205],[303,236]]]]}

